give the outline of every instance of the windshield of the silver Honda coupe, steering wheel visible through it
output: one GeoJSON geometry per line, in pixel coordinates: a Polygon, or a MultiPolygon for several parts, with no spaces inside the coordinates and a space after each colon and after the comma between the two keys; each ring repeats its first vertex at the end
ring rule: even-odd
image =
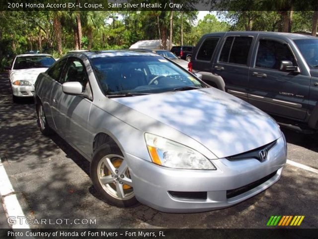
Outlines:
{"type": "Polygon", "coordinates": [[[105,95],[205,87],[190,73],[160,56],[98,57],[92,58],[91,63],[105,95]]]}

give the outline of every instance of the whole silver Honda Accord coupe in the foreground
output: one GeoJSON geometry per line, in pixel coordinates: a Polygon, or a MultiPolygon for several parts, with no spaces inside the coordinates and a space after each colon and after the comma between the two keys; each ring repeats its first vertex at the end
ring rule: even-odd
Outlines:
{"type": "Polygon", "coordinates": [[[154,53],[73,52],[35,83],[38,125],[90,161],[109,204],[163,212],[235,205],[286,163],[277,123],[154,53]]]}

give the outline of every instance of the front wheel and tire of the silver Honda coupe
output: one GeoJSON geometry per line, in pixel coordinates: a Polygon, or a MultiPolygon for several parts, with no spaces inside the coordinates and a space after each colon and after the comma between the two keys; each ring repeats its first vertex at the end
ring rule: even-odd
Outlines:
{"type": "Polygon", "coordinates": [[[102,144],[96,149],[90,176],[106,203],[116,207],[131,207],[138,203],[127,162],[117,147],[102,144]]]}

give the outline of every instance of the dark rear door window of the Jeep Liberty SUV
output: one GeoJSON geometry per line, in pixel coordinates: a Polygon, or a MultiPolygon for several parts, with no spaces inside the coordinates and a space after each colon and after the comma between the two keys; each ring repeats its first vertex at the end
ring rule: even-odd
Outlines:
{"type": "Polygon", "coordinates": [[[226,39],[220,55],[220,62],[247,65],[249,48],[253,38],[230,36],[226,39]]]}

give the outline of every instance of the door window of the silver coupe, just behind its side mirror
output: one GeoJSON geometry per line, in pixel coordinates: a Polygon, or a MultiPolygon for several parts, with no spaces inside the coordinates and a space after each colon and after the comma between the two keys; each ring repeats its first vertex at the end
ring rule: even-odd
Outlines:
{"type": "Polygon", "coordinates": [[[64,74],[64,77],[62,77],[61,79],[62,84],[65,82],[77,81],[81,83],[81,85],[83,86],[83,90],[85,90],[88,82],[88,76],[85,66],[81,63],[80,60],[76,58],[70,58],[64,74]]]}

